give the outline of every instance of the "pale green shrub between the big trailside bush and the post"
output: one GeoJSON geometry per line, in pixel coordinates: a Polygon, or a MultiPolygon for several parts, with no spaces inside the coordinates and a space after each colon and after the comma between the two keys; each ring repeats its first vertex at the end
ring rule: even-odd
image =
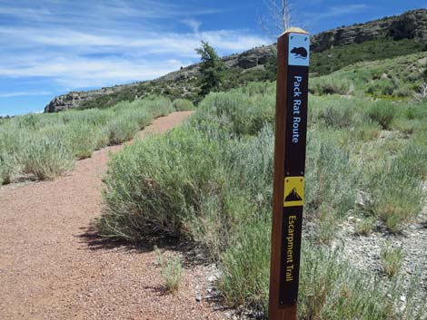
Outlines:
{"type": "Polygon", "coordinates": [[[204,195],[199,212],[185,223],[194,240],[214,258],[233,243],[243,225],[255,217],[268,218],[271,212],[273,131],[266,126],[256,137],[240,142],[222,141],[223,163],[215,172],[221,172],[223,187],[214,195],[204,195]]]}

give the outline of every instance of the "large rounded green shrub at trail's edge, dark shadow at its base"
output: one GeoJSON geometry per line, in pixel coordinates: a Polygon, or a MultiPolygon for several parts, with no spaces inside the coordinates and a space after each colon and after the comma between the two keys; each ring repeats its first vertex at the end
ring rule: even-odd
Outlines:
{"type": "Polygon", "coordinates": [[[174,131],[114,155],[105,179],[102,232],[124,238],[181,233],[183,217],[200,199],[198,188],[211,180],[215,144],[197,131],[174,131]]]}

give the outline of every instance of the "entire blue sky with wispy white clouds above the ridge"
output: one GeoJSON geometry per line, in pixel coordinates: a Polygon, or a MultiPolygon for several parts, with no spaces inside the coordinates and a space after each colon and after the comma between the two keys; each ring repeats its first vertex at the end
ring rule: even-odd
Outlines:
{"type": "MultiPolygon", "coordinates": [[[[293,1],[312,34],[398,15],[425,0],[293,1]]],[[[154,79],[220,54],[273,43],[263,0],[0,0],[0,115],[39,112],[55,95],[154,79]]]]}

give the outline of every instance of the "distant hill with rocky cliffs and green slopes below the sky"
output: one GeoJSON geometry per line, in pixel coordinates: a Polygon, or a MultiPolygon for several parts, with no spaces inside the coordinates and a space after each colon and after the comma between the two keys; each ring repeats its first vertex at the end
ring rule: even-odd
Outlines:
{"type": "MultiPolygon", "coordinates": [[[[427,9],[385,17],[365,24],[342,26],[315,34],[311,39],[311,73],[324,75],[363,61],[427,51],[427,9]]],[[[275,45],[223,57],[227,66],[223,90],[251,81],[274,80],[275,45]]],[[[198,100],[198,63],[147,82],[117,85],[55,97],[45,112],[67,109],[106,108],[149,94],[198,100]]]]}

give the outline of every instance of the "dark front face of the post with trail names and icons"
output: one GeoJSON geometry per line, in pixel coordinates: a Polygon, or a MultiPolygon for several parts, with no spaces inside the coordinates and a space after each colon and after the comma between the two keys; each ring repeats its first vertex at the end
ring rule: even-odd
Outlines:
{"type": "Polygon", "coordinates": [[[279,307],[295,305],[298,300],[301,239],[303,230],[305,146],[307,136],[309,34],[287,35],[287,68],[284,116],[283,210],[279,307]]]}

